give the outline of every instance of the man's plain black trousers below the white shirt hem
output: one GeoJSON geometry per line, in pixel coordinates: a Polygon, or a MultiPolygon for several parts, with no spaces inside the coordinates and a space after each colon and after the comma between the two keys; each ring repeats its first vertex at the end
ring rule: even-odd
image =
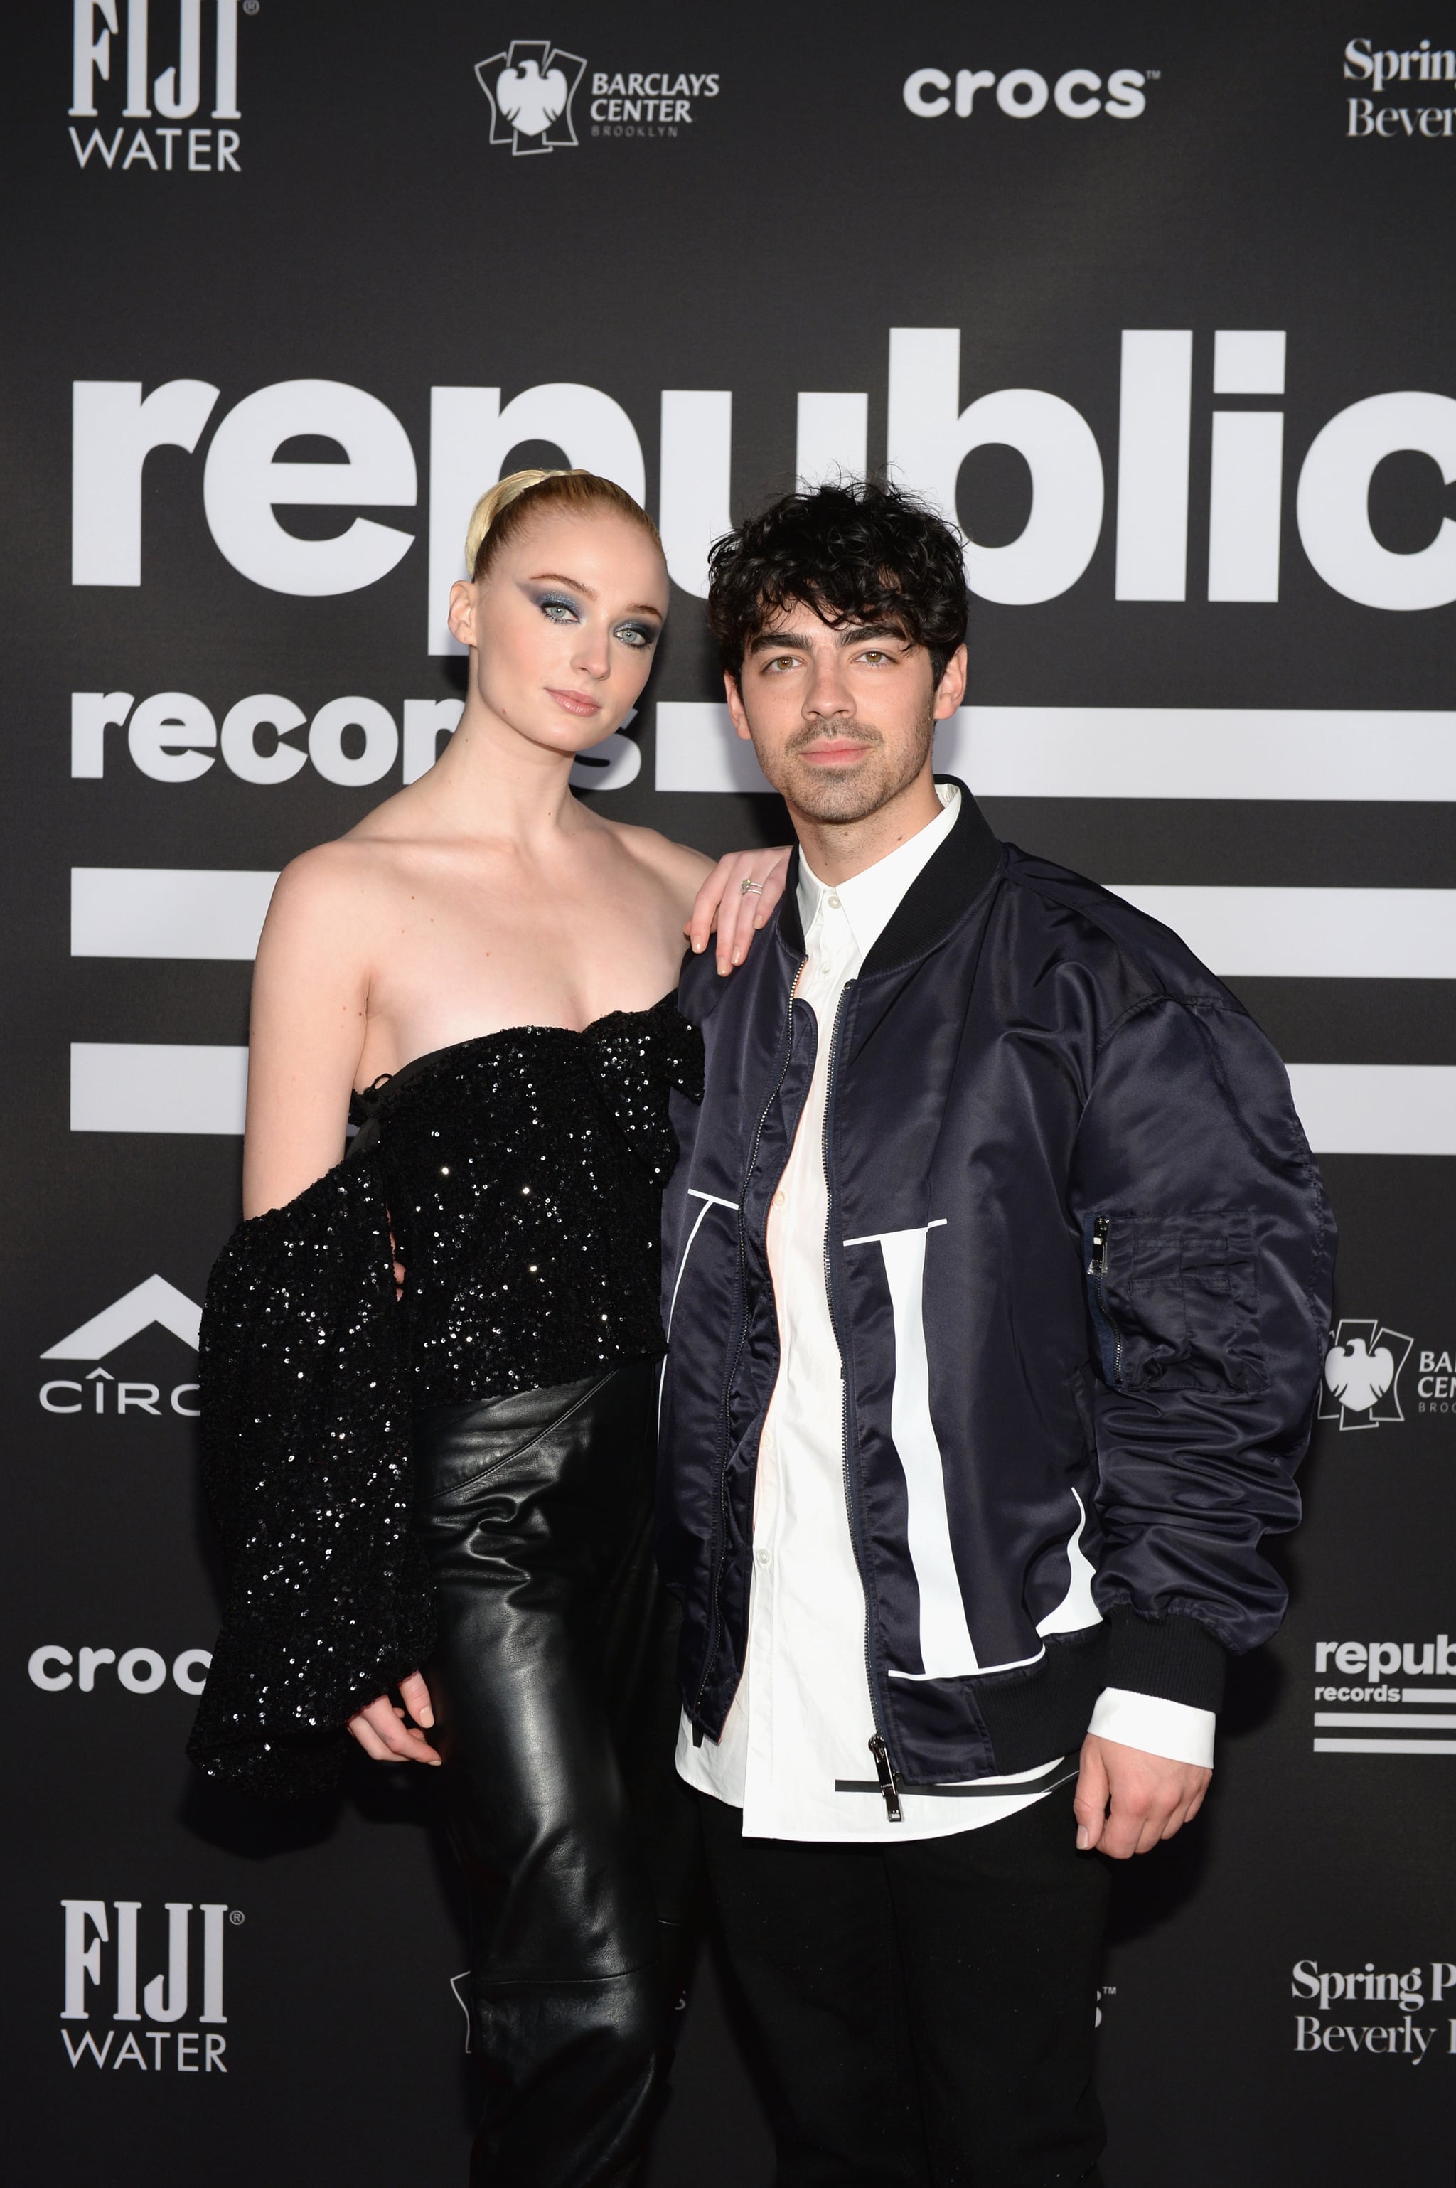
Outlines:
{"type": "Polygon", "coordinates": [[[1095,2188],[1108,1869],[1076,1851],[1071,1785],[903,1847],[743,1838],[737,1807],[697,1807],[776,2188],[1095,2188]]]}

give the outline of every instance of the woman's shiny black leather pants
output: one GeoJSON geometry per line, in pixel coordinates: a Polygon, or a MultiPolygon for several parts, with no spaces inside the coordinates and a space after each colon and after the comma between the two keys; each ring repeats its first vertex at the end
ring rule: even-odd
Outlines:
{"type": "Polygon", "coordinates": [[[656,2111],[695,1884],[651,1558],[656,1376],[638,1361],[413,1424],[485,2076],[474,2188],[627,2181],[656,2111]]]}

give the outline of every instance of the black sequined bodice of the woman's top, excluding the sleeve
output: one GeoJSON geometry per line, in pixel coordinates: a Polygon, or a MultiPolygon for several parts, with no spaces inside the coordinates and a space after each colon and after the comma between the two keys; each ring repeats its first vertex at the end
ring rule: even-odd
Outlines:
{"type": "Polygon", "coordinates": [[[509,1026],[354,1096],[404,1267],[411,1405],[573,1383],[662,1350],[669,1085],[702,1090],[671,998],[584,1033],[509,1026]]]}

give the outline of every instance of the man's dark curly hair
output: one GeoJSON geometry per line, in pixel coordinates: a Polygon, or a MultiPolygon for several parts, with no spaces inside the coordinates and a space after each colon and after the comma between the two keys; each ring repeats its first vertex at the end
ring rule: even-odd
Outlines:
{"type": "Polygon", "coordinates": [[[708,628],[728,676],[785,602],[826,624],[890,624],[925,645],[936,683],[966,639],[960,536],[899,486],[846,479],[780,494],[708,551],[708,628]]]}

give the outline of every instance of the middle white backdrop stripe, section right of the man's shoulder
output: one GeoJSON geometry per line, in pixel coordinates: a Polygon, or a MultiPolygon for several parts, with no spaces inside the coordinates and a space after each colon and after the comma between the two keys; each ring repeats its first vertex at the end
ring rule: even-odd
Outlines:
{"type": "Polygon", "coordinates": [[[1224,980],[1456,980],[1456,888],[1108,888],[1224,980]]]}

